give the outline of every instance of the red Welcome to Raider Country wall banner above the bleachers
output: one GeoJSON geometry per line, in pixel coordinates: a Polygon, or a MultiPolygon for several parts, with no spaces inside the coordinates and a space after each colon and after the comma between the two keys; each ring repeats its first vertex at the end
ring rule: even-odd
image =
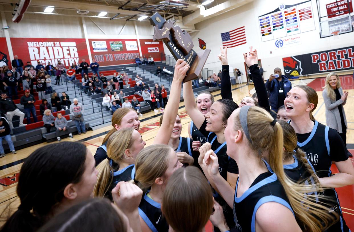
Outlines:
{"type": "Polygon", "coordinates": [[[85,39],[78,38],[11,38],[13,55],[26,64],[30,61],[33,66],[50,62],[56,66],[58,60],[65,67],[80,64],[82,59],[89,61],[85,39]]]}

